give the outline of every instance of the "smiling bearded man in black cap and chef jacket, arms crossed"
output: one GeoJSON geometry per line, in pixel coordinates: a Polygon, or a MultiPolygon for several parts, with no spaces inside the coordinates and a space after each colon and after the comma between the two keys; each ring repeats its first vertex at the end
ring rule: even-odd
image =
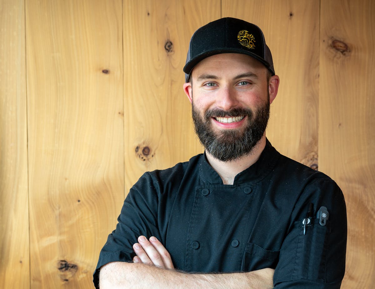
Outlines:
{"type": "Polygon", "coordinates": [[[95,285],[340,288],[344,197],[266,139],[279,77],[260,28],[234,18],[199,28],[184,72],[205,153],[138,180],[101,251],[95,285]]]}

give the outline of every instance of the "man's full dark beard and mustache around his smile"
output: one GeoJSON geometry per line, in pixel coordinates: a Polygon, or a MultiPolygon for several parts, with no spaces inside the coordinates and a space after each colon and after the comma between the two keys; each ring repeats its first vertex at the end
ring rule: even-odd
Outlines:
{"type": "Polygon", "coordinates": [[[229,111],[210,109],[204,115],[192,104],[192,116],[195,132],[201,144],[214,158],[220,161],[234,161],[251,153],[251,150],[262,138],[270,116],[270,103],[259,107],[255,114],[251,109],[234,108],[229,111]],[[228,129],[215,132],[212,129],[211,117],[247,116],[245,130],[228,129]]]}

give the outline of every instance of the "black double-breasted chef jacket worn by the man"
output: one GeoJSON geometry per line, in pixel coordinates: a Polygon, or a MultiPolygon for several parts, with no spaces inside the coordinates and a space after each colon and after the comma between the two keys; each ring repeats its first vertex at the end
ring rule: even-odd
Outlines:
{"type": "Polygon", "coordinates": [[[145,173],[130,189],[94,273],[129,262],[139,235],[157,237],[175,268],[238,272],[275,268],[275,288],[340,288],[345,271],[347,218],[340,188],[325,174],[278,153],[268,142],[260,159],[223,185],[205,155],[145,173]],[[327,207],[312,219],[309,203],[327,207]]]}

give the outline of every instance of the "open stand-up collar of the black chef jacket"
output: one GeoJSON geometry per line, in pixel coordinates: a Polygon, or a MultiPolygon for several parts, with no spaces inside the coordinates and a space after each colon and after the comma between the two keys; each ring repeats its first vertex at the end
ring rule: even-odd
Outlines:
{"type": "MultiPolygon", "coordinates": [[[[247,182],[258,182],[263,179],[270,170],[275,166],[279,159],[279,153],[272,146],[268,139],[266,139],[266,146],[263,149],[259,159],[248,167],[246,170],[240,172],[234,177],[233,185],[239,185],[247,182]]],[[[208,164],[206,154],[201,156],[201,165],[199,166],[199,175],[204,182],[211,184],[222,184],[223,181],[219,174],[208,164]]]]}

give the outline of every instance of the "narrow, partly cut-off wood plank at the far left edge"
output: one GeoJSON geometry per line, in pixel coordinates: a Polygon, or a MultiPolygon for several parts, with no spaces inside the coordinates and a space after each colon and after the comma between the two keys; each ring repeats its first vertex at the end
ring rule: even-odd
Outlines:
{"type": "Polygon", "coordinates": [[[24,1],[0,1],[0,280],[29,287],[24,1]]]}

